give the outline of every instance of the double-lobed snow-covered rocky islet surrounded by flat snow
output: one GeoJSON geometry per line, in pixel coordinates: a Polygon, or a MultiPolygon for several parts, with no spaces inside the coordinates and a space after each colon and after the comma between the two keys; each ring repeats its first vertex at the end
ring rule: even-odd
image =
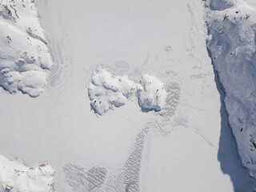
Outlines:
{"type": "Polygon", "coordinates": [[[96,114],[104,114],[123,106],[131,97],[138,97],[143,110],[162,110],[166,104],[166,90],[157,78],[146,74],[135,83],[128,75],[114,76],[107,70],[94,72],[88,87],[90,106],[96,114]]]}

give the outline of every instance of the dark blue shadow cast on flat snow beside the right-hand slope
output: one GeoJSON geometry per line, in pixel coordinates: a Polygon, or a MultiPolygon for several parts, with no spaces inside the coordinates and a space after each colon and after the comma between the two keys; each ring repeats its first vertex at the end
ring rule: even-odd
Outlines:
{"type": "Polygon", "coordinates": [[[242,162],[238,156],[237,143],[228,122],[228,115],[224,105],[225,92],[222,84],[219,82],[218,72],[214,71],[215,82],[220,94],[221,100],[221,136],[219,138],[218,161],[222,172],[229,174],[233,182],[235,192],[252,192],[254,191],[254,179],[250,178],[246,168],[242,166],[242,162]]]}

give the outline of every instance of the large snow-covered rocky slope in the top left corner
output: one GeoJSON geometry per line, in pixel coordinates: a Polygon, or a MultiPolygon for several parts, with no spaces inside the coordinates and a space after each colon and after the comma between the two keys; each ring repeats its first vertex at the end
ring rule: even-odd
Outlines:
{"type": "Polygon", "coordinates": [[[0,2],[0,86],[31,97],[42,93],[52,65],[35,2],[0,2]]]}

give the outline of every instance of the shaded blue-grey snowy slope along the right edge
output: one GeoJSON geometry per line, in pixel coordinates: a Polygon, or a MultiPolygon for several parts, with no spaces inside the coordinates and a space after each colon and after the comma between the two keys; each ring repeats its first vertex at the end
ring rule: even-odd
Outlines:
{"type": "Polygon", "coordinates": [[[206,1],[207,47],[242,165],[256,178],[256,2],[206,1]]]}

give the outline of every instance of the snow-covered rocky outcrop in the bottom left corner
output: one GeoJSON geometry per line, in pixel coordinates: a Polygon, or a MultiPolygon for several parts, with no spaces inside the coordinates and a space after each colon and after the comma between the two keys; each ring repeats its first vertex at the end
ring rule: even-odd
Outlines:
{"type": "Polygon", "coordinates": [[[51,166],[27,167],[0,155],[0,192],[46,192],[53,191],[53,185],[54,170],[51,166]]]}

